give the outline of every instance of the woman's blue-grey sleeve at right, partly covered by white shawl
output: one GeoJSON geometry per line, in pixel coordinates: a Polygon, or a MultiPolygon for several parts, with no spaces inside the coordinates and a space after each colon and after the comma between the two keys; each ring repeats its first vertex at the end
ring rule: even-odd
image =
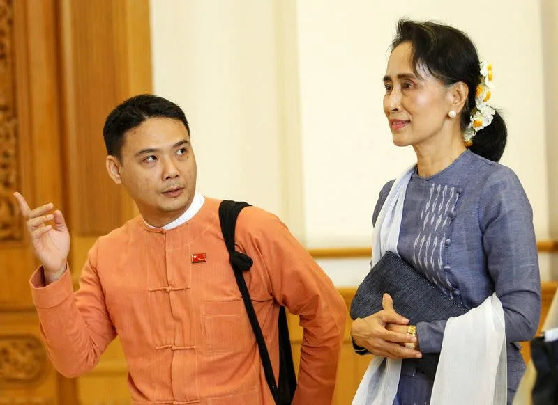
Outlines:
{"type": "MultiPolygon", "coordinates": [[[[504,308],[506,342],[530,340],[541,314],[541,280],[531,205],[513,171],[502,166],[489,177],[478,214],[486,267],[504,308]]],[[[445,326],[417,324],[423,353],[439,353],[445,326]]]]}

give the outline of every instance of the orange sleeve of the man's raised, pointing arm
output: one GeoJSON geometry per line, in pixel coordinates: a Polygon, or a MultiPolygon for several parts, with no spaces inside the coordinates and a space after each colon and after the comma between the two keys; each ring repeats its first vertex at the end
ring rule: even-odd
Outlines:
{"type": "Polygon", "coordinates": [[[89,251],[75,293],[69,267],[59,280],[46,286],[42,267],[30,280],[47,352],[56,370],[66,377],[93,369],[116,337],[94,265],[96,252],[97,244],[89,251]]]}

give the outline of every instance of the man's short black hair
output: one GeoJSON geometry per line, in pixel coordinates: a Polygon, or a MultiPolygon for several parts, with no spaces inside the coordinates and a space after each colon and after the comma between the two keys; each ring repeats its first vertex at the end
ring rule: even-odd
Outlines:
{"type": "Polygon", "coordinates": [[[188,134],[190,134],[190,126],[184,111],[174,102],[152,94],[135,95],[116,106],[107,116],[105,127],[103,127],[103,138],[105,138],[107,154],[120,159],[124,134],[148,118],[172,118],[179,120],[186,127],[188,134]]]}

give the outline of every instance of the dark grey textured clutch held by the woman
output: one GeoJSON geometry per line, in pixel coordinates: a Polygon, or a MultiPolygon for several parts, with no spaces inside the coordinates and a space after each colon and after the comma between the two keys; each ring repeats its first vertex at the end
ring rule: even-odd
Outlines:
{"type": "MultiPolygon", "coordinates": [[[[458,301],[443,294],[398,255],[390,251],[364,278],[351,303],[351,318],[363,318],[382,310],[382,296],[393,298],[393,308],[409,319],[410,324],[446,320],[468,311],[458,301]]],[[[420,342],[420,336],[419,342],[420,342]]],[[[423,354],[414,360],[417,370],[434,379],[439,354],[423,354]]]]}

